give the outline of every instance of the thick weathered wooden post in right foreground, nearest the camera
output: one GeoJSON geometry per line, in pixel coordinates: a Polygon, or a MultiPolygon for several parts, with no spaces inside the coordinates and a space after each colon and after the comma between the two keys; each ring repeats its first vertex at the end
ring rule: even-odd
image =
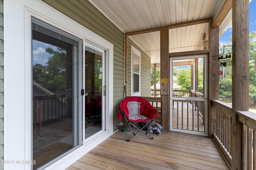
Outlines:
{"type": "Polygon", "coordinates": [[[249,0],[232,0],[232,170],[242,169],[242,123],[249,109],[249,0]]]}

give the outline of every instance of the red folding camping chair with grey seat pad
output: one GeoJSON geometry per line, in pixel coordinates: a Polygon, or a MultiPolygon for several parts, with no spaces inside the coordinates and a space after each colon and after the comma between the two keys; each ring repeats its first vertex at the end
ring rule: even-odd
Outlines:
{"type": "Polygon", "coordinates": [[[141,97],[126,97],[119,104],[118,118],[122,119],[122,131],[125,131],[126,141],[130,141],[138,132],[142,132],[150,139],[153,137],[150,134],[149,127],[157,116],[155,109],[147,100],[141,97]],[[127,124],[129,125],[133,136],[127,137],[127,124]],[[142,126],[140,126],[142,124],[142,126]],[[136,133],[134,132],[134,127],[136,133]],[[146,129],[146,132],[143,131],[146,129]]]}

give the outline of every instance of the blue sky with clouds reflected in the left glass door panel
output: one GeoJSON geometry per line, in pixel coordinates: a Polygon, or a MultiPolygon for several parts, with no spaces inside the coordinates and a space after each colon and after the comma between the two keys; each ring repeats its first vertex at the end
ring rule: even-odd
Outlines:
{"type": "Polygon", "coordinates": [[[58,47],[54,45],[50,45],[47,43],[43,43],[41,41],[37,41],[33,39],[33,65],[34,64],[42,64],[46,65],[48,61],[48,57],[51,57],[53,54],[49,54],[45,51],[45,49],[51,48],[54,51],[59,51],[58,47]]]}

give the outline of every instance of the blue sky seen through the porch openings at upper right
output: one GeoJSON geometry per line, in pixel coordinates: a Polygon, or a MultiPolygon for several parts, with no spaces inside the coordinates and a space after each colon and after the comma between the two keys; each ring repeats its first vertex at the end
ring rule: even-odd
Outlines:
{"type": "MultiPolygon", "coordinates": [[[[249,33],[256,31],[256,0],[252,0],[249,4],[249,33]]],[[[229,41],[229,36],[232,35],[232,27],[220,37],[220,41],[229,41]]]]}

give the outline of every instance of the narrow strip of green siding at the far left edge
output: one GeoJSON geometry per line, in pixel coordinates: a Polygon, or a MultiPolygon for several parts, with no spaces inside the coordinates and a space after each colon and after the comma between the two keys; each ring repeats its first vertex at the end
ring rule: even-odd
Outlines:
{"type": "MultiPolygon", "coordinates": [[[[0,0],[0,160],[4,159],[4,2],[0,0]]],[[[0,170],[4,165],[0,164],[0,170]]]]}

